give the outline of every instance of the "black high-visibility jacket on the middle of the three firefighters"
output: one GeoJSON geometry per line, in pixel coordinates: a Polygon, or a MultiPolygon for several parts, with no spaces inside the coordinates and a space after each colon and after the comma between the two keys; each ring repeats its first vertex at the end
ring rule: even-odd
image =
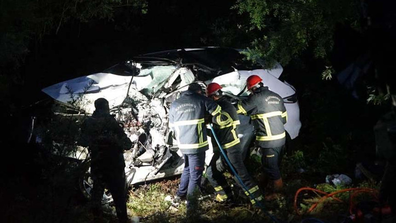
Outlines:
{"type": "MultiPolygon", "coordinates": [[[[221,114],[226,116],[227,119],[221,121],[221,116],[218,115],[217,125],[214,125],[213,129],[223,149],[228,149],[240,143],[237,131],[237,126],[240,124],[238,114],[235,107],[224,97],[218,99],[216,103],[221,107],[221,114]]],[[[218,148],[216,142],[214,148],[218,148]]]]}

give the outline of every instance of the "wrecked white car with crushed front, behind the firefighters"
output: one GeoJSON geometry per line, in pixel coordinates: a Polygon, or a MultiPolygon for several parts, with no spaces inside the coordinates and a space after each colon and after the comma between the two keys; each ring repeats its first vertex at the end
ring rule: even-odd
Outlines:
{"type": "MultiPolygon", "coordinates": [[[[244,61],[232,48],[179,49],[135,56],[116,64],[102,73],[81,76],[54,84],[42,91],[65,106],[79,100],[79,112],[92,113],[93,102],[106,98],[111,113],[123,123],[134,146],[126,151],[128,185],[180,174],[183,158],[177,143],[169,134],[168,111],[171,103],[193,82],[204,88],[211,82],[220,84],[224,95],[232,103],[248,96],[246,79],[259,75],[271,91],[284,98],[288,111],[285,128],[291,139],[298,136],[301,123],[295,89],[279,80],[283,68],[276,64],[263,69],[260,64],[244,61]]],[[[250,118],[240,116],[238,137],[246,155],[254,136],[250,118]]],[[[209,138],[210,140],[210,138],[209,138]]],[[[82,148],[82,150],[84,150],[82,148]]],[[[86,150],[85,150],[85,153],[86,150]]],[[[212,157],[207,151],[206,163],[212,157]]],[[[75,155],[82,159],[85,156],[75,155]]],[[[81,189],[90,194],[89,173],[81,179],[81,189]]],[[[104,195],[104,202],[111,196],[104,195]]]]}

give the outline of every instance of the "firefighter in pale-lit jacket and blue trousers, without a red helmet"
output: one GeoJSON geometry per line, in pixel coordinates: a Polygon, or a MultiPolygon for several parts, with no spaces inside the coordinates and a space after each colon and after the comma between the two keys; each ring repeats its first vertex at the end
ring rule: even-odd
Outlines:
{"type": "Polygon", "coordinates": [[[198,189],[204,169],[205,151],[209,149],[205,117],[211,115],[216,122],[220,111],[220,106],[202,95],[198,83],[190,84],[188,91],[181,93],[180,98],[172,103],[169,127],[174,130],[178,147],[184,155],[184,169],[174,202],[187,195],[191,196],[198,189]]]}

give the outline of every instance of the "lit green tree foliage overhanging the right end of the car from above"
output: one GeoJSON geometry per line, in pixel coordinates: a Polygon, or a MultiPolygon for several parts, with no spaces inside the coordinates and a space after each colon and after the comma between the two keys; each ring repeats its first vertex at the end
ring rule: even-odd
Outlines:
{"type": "Polygon", "coordinates": [[[286,65],[308,48],[326,58],[333,47],[337,23],[357,24],[354,1],[344,0],[237,0],[234,9],[248,14],[251,47],[246,55],[286,65]]]}

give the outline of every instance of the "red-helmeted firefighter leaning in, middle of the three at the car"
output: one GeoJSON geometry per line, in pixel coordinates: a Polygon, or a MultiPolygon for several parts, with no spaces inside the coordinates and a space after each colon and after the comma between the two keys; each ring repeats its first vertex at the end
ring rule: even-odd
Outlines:
{"type": "MultiPolygon", "coordinates": [[[[242,180],[243,184],[249,189],[249,192],[252,194],[252,196],[255,198],[252,199],[252,197],[250,197],[252,204],[255,204],[256,201],[262,201],[263,196],[258,186],[252,181],[252,178],[243,163],[242,148],[240,140],[237,136],[237,126],[240,125],[239,118],[234,106],[230,102],[226,101],[223,97],[221,89],[222,87],[217,83],[211,83],[206,88],[206,95],[213,98],[221,107],[221,113],[228,117],[227,120],[218,122],[219,125],[214,125],[213,129],[215,130],[221,147],[227,154],[227,157],[233,165],[236,173],[242,180]]],[[[212,157],[211,163],[206,169],[206,175],[209,182],[216,190],[216,201],[225,202],[228,199],[227,192],[229,191],[229,186],[225,177],[218,169],[218,166],[221,166],[218,165],[218,163],[222,161],[219,159],[221,154],[217,145],[214,145],[214,153],[215,154],[212,157]]],[[[236,183],[239,185],[237,180],[236,183]]],[[[249,196],[247,191],[245,191],[245,194],[249,196]]]]}

